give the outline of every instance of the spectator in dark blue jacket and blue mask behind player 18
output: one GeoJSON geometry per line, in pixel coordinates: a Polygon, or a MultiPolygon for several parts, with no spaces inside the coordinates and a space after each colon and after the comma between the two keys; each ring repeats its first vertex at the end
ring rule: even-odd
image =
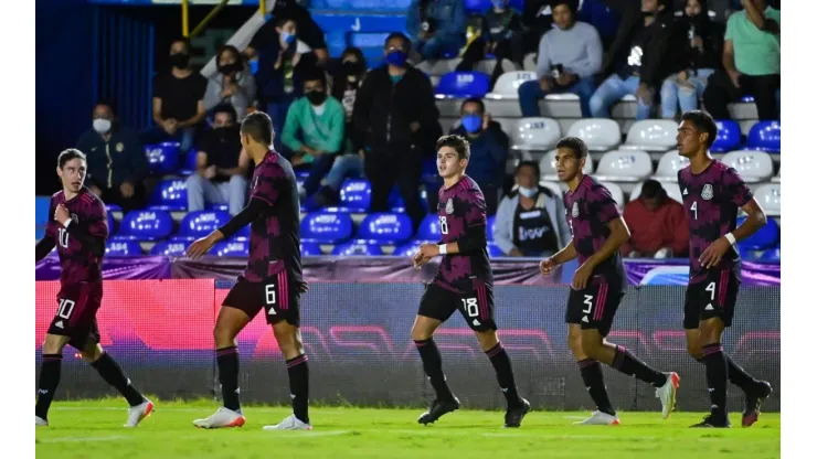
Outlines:
{"type": "Polygon", "coordinates": [[[497,212],[499,193],[502,191],[505,163],[508,160],[510,139],[499,122],[491,120],[485,111],[482,99],[466,99],[459,108],[463,118],[450,134],[468,139],[471,158],[468,161],[468,177],[482,190],[488,215],[497,212]]]}

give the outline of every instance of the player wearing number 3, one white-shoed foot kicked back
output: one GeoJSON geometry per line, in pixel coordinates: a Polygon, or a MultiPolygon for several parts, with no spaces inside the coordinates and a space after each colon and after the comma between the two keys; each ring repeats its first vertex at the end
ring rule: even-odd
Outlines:
{"type": "Polygon", "coordinates": [[[627,287],[619,249],[629,238],[629,228],[609,191],[582,172],[586,159],[587,146],[582,139],[565,137],[556,143],[556,173],[569,188],[564,209],[573,238],[562,250],[540,263],[542,274],[549,275],[558,265],[579,258],[564,321],[570,349],[596,410],[576,424],[619,424],[600,362],[656,387],[666,419],[675,405],[678,374],[656,371],[626,348],[606,340],[627,287]]]}

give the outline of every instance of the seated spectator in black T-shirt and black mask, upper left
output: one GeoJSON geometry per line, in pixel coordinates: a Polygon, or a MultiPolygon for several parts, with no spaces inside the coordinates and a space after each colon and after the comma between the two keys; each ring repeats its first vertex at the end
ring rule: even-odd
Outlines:
{"type": "Polygon", "coordinates": [[[141,134],[145,145],[168,140],[180,142],[185,154],[204,126],[204,93],[208,81],[190,68],[190,43],[187,39],[170,45],[170,73],[153,81],[153,122],[156,126],[141,134]]]}

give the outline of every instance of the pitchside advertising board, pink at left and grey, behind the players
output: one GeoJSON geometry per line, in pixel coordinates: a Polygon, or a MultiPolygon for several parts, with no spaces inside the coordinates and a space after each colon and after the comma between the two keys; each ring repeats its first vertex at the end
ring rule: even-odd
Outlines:
{"type": "MultiPolygon", "coordinates": [[[[134,383],[161,398],[217,397],[212,329],[233,281],[214,279],[112,280],[98,313],[102,344],[134,383]]],[[[56,308],[59,281],[36,282],[36,359],[56,308]]],[[[408,406],[433,398],[410,330],[422,282],[311,281],[301,299],[303,338],[310,361],[314,403],[408,406]]],[[[681,329],[685,288],[629,287],[609,339],[664,371],[681,375],[678,409],[704,412],[703,365],[686,354],[681,329]]],[[[513,361],[521,393],[538,409],[590,406],[566,346],[566,287],[496,286],[500,339],[513,361]]],[[[779,288],[746,286],[724,346],[757,377],[779,386],[779,288]]],[[[452,388],[467,407],[501,408],[488,359],[473,332],[453,317],[435,335],[452,388]]],[[[245,402],[288,404],[283,356],[263,314],[238,337],[245,402]]],[[[72,350],[73,351],[73,350],[72,350]]],[[[57,397],[115,395],[78,355],[65,352],[57,397]]],[[[660,408],[649,385],[605,369],[614,404],[624,410],[660,408]]],[[[730,409],[742,397],[730,386],[730,409]]],[[[779,394],[764,405],[779,410],[779,394]]]]}

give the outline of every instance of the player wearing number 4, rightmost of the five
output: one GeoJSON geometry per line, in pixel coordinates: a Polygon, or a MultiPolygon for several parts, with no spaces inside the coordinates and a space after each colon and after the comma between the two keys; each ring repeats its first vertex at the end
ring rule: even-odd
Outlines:
{"type": "Polygon", "coordinates": [[[732,324],[741,285],[741,257],[734,244],[762,228],[766,214],[738,172],[710,156],[717,135],[718,126],[708,114],[692,110],[681,116],[678,152],[690,162],[678,171],[690,235],[683,328],[689,354],[707,366],[712,402],[710,415],[692,427],[730,427],[726,380],[745,394],[741,424],[749,427],[757,420],[772,385],[735,364],[723,351],[721,338],[732,324]],[[735,228],[738,207],[749,216],[735,228]]]}

